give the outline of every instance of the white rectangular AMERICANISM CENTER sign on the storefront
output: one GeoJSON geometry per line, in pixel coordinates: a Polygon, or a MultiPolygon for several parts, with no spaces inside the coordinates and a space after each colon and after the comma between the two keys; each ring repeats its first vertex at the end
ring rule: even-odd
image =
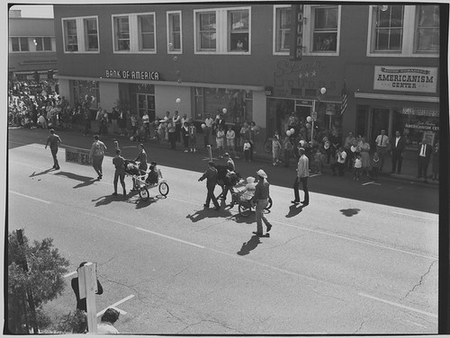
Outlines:
{"type": "Polygon", "coordinates": [[[374,89],[394,92],[437,93],[437,67],[375,66],[374,89]]]}

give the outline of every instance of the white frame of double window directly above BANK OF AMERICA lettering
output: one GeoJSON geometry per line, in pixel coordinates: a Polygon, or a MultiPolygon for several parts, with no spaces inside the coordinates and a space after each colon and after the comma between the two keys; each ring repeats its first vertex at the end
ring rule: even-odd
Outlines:
{"type": "Polygon", "coordinates": [[[113,54],[157,54],[157,14],[156,12],[144,12],[144,13],[120,13],[112,14],[111,16],[111,27],[112,27],[112,53],[113,54]],[[141,34],[140,34],[140,24],[139,17],[142,16],[153,16],[153,41],[154,49],[141,49],[141,34]],[[130,30],[130,50],[119,50],[117,49],[116,39],[115,39],[115,18],[118,17],[128,17],[128,25],[130,30]]]}

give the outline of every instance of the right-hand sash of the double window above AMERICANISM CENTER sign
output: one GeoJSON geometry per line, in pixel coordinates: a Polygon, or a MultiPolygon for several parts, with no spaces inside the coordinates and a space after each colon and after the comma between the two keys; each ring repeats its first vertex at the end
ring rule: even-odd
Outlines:
{"type": "Polygon", "coordinates": [[[439,6],[419,5],[416,29],[416,50],[439,51],[439,6]]]}

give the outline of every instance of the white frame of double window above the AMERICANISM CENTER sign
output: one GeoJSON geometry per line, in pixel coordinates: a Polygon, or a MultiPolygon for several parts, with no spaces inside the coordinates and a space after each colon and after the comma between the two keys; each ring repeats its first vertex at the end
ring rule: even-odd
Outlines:
{"type": "MultiPolygon", "coordinates": [[[[426,5],[426,4],[425,4],[426,5]]],[[[429,4],[433,5],[433,4],[429,4]]],[[[436,51],[418,51],[416,50],[417,41],[417,14],[419,4],[404,4],[403,11],[403,36],[402,46],[399,52],[375,52],[374,51],[374,25],[375,8],[377,5],[369,5],[369,20],[367,30],[367,49],[368,58],[439,58],[439,50],[436,51]]],[[[439,22],[440,23],[440,22],[439,22]]],[[[440,47],[440,46],[439,46],[440,47]]]]}

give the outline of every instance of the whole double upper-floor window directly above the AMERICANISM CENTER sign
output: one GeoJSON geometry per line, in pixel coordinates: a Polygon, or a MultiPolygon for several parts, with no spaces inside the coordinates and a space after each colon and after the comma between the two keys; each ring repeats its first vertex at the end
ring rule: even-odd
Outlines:
{"type": "Polygon", "coordinates": [[[439,5],[384,4],[369,8],[369,57],[438,57],[439,5]]]}

